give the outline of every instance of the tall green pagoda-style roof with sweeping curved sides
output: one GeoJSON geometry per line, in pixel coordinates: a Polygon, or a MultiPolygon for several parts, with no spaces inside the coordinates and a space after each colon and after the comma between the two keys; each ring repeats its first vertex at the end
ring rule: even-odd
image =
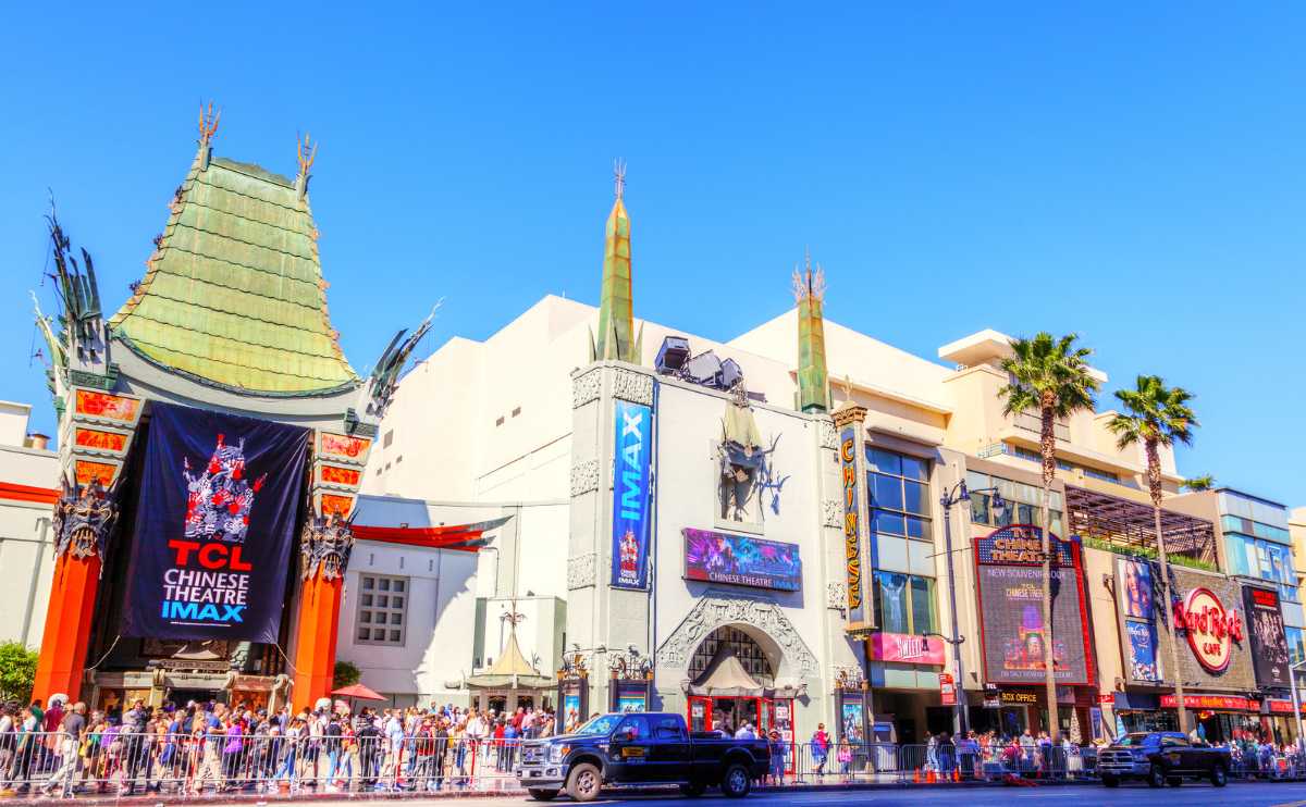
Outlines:
{"type": "Polygon", "coordinates": [[[302,166],[290,180],[210,157],[201,142],[111,337],[166,371],[242,393],[358,385],[330,325],[302,166]]]}

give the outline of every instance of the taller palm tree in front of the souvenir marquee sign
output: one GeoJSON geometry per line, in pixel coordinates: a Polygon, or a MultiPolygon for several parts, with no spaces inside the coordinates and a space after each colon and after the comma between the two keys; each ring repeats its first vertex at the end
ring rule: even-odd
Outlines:
{"type": "Polygon", "coordinates": [[[1057,670],[1053,663],[1053,546],[1051,503],[1053,481],[1057,478],[1057,419],[1068,418],[1079,410],[1093,409],[1097,379],[1087,359],[1088,347],[1076,347],[1077,334],[1060,338],[1047,332],[1032,340],[1012,340],[1012,355],[1002,360],[1008,384],[998,390],[1004,398],[1003,413],[1019,415],[1037,411],[1040,417],[1040,454],[1043,466],[1042,533],[1043,533],[1043,670],[1047,684],[1047,723],[1053,740],[1059,739],[1060,721],[1057,717],[1057,670]]]}

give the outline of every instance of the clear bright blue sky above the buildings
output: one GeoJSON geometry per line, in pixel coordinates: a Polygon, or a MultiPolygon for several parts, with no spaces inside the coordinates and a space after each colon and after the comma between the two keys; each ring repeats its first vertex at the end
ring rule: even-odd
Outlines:
{"type": "Polygon", "coordinates": [[[0,27],[0,397],[39,428],[47,187],[115,309],[215,99],[218,154],[321,142],[359,370],[441,296],[423,353],[594,302],[620,155],[637,316],[729,338],[811,244],[829,317],[930,358],[1079,332],[1113,388],[1196,392],[1182,473],[1306,503],[1301,5],[74,5],[0,27]]]}

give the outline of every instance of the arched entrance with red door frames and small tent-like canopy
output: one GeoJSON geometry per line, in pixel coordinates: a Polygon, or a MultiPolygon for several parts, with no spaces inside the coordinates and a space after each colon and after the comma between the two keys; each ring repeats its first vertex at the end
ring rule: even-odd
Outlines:
{"type": "MultiPolygon", "coordinates": [[[[773,644],[773,642],[772,642],[773,644]]],[[[778,646],[768,650],[739,625],[722,625],[695,648],[690,657],[690,729],[735,734],[746,725],[759,736],[772,730],[786,747],[786,769],[793,765],[791,687],[776,687],[778,646]]]]}

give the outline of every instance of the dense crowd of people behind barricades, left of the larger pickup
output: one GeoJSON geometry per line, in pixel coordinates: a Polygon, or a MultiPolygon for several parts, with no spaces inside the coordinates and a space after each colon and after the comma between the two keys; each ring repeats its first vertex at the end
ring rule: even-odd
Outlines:
{"type": "Polygon", "coordinates": [[[200,794],[302,787],[438,790],[507,778],[524,739],[554,713],[453,705],[371,709],[341,701],[298,713],[244,704],[166,703],[89,712],[39,700],[0,705],[0,790],[200,794]]]}

